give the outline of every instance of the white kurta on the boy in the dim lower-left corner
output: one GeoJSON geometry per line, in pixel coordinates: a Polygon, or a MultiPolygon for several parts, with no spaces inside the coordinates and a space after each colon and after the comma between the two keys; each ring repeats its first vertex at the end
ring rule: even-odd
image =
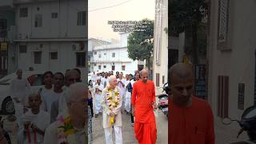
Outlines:
{"type": "Polygon", "coordinates": [[[18,132],[18,144],[42,144],[44,136],[36,133],[36,143],[34,143],[32,129],[30,129],[31,142],[28,141],[27,134],[24,134],[24,122],[31,122],[35,126],[38,126],[40,130],[45,131],[46,127],[50,125],[50,115],[44,110],[40,110],[38,114],[33,114],[31,110],[29,110],[26,114],[22,115],[22,127],[18,132]]]}

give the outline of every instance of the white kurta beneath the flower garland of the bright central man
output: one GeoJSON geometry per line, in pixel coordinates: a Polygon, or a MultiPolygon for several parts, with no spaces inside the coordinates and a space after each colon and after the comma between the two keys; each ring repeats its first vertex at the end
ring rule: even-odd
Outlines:
{"type": "MultiPolygon", "coordinates": [[[[118,88],[118,91],[120,92],[120,89],[118,88]]],[[[109,120],[110,120],[110,110],[106,104],[106,94],[107,94],[107,89],[105,88],[104,90],[102,90],[102,107],[103,107],[103,121],[102,121],[102,125],[103,128],[109,128],[109,120]]],[[[122,97],[120,98],[120,102],[118,104],[118,106],[114,109],[114,114],[116,114],[115,116],[115,120],[116,122],[114,123],[114,126],[122,126],[122,114],[121,114],[121,107],[122,107],[122,97]]]]}

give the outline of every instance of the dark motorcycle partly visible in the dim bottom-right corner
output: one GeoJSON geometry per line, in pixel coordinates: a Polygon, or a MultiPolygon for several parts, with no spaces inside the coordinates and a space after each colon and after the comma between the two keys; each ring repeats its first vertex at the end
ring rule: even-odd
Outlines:
{"type": "Polygon", "coordinates": [[[256,144],[256,106],[250,106],[247,108],[243,112],[240,121],[231,118],[224,118],[222,120],[222,123],[225,125],[230,125],[231,122],[238,122],[241,127],[237,138],[243,131],[246,131],[249,137],[249,140],[247,141],[232,142],[231,144],[256,144]]]}

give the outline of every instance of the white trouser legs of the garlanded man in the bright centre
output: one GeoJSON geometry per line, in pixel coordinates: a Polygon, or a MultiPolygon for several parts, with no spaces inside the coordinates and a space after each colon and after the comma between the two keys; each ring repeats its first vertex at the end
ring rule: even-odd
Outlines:
{"type": "MultiPolygon", "coordinates": [[[[112,130],[113,130],[112,127],[104,129],[106,144],[113,144],[112,130]]],[[[122,144],[122,129],[121,129],[121,127],[114,126],[114,136],[115,136],[115,143],[122,144]]]]}

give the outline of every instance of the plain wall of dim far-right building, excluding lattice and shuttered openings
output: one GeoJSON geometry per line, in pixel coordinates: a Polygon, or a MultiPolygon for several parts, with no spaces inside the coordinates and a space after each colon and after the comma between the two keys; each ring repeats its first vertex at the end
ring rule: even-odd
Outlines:
{"type": "Polygon", "coordinates": [[[210,103],[217,114],[218,75],[230,77],[229,116],[241,118],[238,110],[238,83],[245,83],[245,109],[254,102],[254,50],[256,46],[256,2],[254,0],[230,1],[229,46],[231,51],[217,50],[218,1],[211,1],[210,18],[210,103]]]}

